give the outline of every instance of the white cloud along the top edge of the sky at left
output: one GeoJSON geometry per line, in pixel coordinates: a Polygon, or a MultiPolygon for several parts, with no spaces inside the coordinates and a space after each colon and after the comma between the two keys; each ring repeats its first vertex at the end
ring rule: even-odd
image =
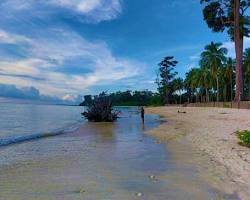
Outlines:
{"type": "Polygon", "coordinates": [[[122,12],[121,0],[3,0],[0,8],[8,10],[8,15],[29,12],[39,18],[47,17],[61,8],[70,11],[70,15],[84,16],[83,20],[91,23],[115,19],[122,12]]]}

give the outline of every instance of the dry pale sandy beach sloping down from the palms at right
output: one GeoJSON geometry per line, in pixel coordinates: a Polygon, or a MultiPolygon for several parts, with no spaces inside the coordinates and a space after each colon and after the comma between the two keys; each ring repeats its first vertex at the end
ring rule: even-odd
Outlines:
{"type": "Polygon", "coordinates": [[[185,141],[209,156],[213,163],[210,171],[219,171],[218,176],[227,180],[225,189],[238,193],[242,199],[249,199],[250,149],[240,146],[235,134],[237,130],[250,129],[249,110],[156,107],[147,108],[147,113],[159,114],[166,121],[148,134],[157,137],[159,142],[166,142],[170,149],[171,145],[181,146],[185,141]]]}

